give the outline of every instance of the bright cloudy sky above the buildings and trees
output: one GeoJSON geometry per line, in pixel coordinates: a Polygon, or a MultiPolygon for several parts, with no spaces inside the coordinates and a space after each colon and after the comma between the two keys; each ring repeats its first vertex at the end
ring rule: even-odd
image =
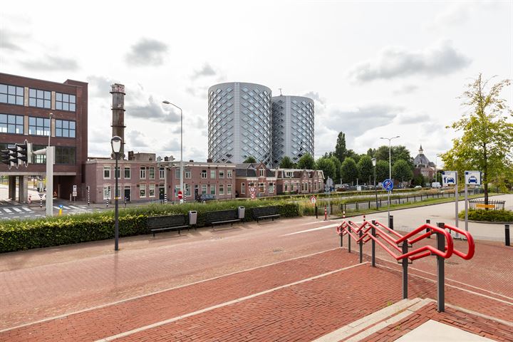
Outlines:
{"type": "MultiPolygon", "coordinates": [[[[315,100],[315,157],[460,135],[479,73],[513,77],[513,1],[7,1],[0,72],[88,82],[89,156],[110,155],[110,85],[125,85],[125,151],[207,159],[207,88],[259,83],[315,100]]],[[[513,87],[502,97],[513,103],[513,87]]]]}

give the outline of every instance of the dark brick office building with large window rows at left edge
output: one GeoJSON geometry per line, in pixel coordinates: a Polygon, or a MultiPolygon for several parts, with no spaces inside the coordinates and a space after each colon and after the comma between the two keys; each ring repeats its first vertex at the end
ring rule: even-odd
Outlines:
{"type": "MultiPolygon", "coordinates": [[[[0,149],[25,140],[33,150],[56,147],[54,194],[69,199],[73,185],[83,199],[83,164],[88,152],[88,83],[67,80],[43,81],[0,73],[0,149]]],[[[9,198],[26,202],[28,176],[46,175],[45,156],[33,158],[28,167],[18,169],[0,165],[0,174],[9,176],[9,198]]]]}

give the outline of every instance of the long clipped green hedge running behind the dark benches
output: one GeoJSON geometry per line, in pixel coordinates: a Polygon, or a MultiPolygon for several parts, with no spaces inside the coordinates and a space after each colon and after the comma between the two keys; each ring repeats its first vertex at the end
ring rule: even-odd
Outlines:
{"type": "MultiPolygon", "coordinates": [[[[254,220],[252,207],[268,205],[276,205],[282,217],[299,216],[298,204],[284,201],[265,203],[259,201],[227,201],[181,205],[150,204],[143,207],[120,209],[119,234],[120,237],[148,234],[147,217],[164,214],[187,214],[189,210],[197,211],[197,225],[199,227],[204,226],[207,212],[235,209],[237,206],[246,208],[244,222],[249,222],[254,220]]],[[[14,219],[0,224],[0,253],[113,239],[113,237],[114,212],[112,210],[48,219],[28,219],[24,221],[14,219]]]]}

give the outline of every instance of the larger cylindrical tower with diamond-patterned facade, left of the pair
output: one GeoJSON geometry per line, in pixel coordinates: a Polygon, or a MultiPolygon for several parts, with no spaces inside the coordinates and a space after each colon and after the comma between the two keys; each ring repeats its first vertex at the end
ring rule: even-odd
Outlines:
{"type": "Polygon", "coordinates": [[[208,90],[208,155],[214,162],[247,157],[271,165],[271,89],[220,83],[208,90]]]}

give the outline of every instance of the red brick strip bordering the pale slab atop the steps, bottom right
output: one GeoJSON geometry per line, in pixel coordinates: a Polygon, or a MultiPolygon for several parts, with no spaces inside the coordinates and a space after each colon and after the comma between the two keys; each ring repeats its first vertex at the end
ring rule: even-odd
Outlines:
{"type": "Polygon", "coordinates": [[[438,312],[435,303],[424,306],[414,314],[373,333],[362,341],[395,341],[430,319],[496,341],[513,341],[513,326],[451,307],[447,307],[445,312],[438,312]]]}

